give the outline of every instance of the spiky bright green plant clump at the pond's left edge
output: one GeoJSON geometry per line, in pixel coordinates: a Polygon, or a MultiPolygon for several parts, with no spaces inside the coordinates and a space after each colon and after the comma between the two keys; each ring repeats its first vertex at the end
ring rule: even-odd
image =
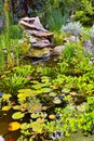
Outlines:
{"type": "Polygon", "coordinates": [[[30,81],[30,76],[33,73],[33,67],[30,65],[14,67],[10,74],[2,78],[0,87],[2,91],[6,90],[6,93],[10,92],[15,94],[18,89],[24,88],[30,81]],[[4,89],[5,88],[5,89],[4,89]]]}

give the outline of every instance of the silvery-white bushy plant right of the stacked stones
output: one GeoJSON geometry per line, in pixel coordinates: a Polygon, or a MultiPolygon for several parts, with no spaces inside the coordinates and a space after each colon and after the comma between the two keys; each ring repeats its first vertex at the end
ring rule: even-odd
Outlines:
{"type": "Polygon", "coordinates": [[[83,30],[82,25],[79,22],[68,23],[66,26],[63,25],[61,31],[69,35],[79,36],[83,30]]]}

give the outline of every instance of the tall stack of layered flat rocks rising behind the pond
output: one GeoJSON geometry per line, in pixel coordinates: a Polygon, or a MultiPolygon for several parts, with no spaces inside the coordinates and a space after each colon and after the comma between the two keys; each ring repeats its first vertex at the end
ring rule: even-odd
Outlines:
{"type": "MultiPolygon", "coordinates": [[[[28,37],[28,48],[24,46],[26,55],[29,57],[48,57],[53,51],[53,33],[44,29],[39,17],[24,17],[19,21],[19,25],[24,28],[25,35],[28,37]]],[[[24,37],[23,44],[27,41],[24,37]]],[[[22,46],[23,46],[22,44],[22,46]]]]}

